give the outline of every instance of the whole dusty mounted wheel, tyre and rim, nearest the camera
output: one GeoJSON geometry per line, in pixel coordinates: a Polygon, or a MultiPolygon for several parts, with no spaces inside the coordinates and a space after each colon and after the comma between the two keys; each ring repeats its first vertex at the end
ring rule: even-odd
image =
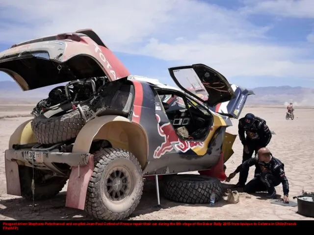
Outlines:
{"type": "Polygon", "coordinates": [[[101,220],[129,217],[143,193],[142,168],[138,160],[129,151],[105,148],[94,153],[94,165],[85,211],[101,220]]]}

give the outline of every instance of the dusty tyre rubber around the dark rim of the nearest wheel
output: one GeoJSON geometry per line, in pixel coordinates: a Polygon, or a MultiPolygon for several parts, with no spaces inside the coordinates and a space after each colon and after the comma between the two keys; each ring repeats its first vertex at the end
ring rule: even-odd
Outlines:
{"type": "Polygon", "coordinates": [[[88,184],[85,211],[100,220],[122,220],[129,217],[143,193],[141,165],[133,154],[123,149],[105,148],[93,155],[95,168],[88,184]],[[131,191],[122,201],[114,203],[106,196],[103,185],[106,184],[106,177],[110,172],[121,166],[130,173],[131,181],[128,181],[128,186],[131,186],[131,191]]]}

